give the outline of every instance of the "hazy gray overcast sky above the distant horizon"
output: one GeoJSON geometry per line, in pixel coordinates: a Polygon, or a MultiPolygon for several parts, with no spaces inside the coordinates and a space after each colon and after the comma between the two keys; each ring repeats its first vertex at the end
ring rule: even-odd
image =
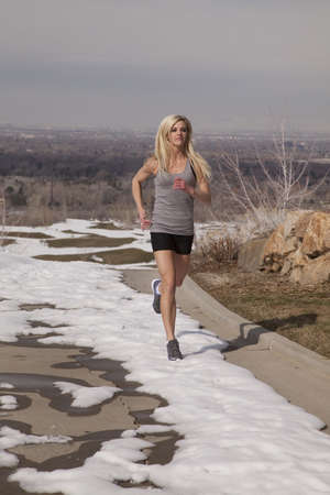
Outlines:
{"type": "Polygon", "coordinates": [[[330,129],[329,0],[1,0],[0,123],[330,129]]]}

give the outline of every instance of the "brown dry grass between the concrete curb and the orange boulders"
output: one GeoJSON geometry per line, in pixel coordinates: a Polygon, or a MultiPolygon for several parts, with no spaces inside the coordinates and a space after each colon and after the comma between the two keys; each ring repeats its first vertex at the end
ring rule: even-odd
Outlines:
{"type": "Polygon", "coordinates": [[[243,273],[235,264],[202,265],[193,278],[231,311],[330,358],[330,283],[302,287],[278,274],[243,273]]]}

